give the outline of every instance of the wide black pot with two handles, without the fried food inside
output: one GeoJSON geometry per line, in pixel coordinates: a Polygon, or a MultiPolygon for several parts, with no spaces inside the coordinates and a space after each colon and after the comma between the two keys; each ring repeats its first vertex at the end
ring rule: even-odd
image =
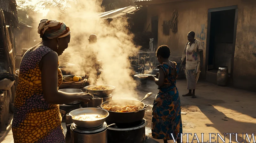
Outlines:
{"type": "MultiPolygon", "coordinates": [[[[140,121],[143,119],[145,115],[145,109],[148,107],[148,105],[145,105],[143,102],[137,101],[137,100],[130,100],[130,99],[115,99],[115,100],[109,100],[106,102],[103,102],[99,108],[103,109],[104,105],[119,105],[119,106],[126,106],[126,105],[136,105],[140,107],[141,109],[136,112],[113,112],[108,111],[109,116],[107,117],[107,121],[110,123],[133,123],[136,121],[140,121]]],[[[105,109],[104,109],[105,110],[105,109]]]]}

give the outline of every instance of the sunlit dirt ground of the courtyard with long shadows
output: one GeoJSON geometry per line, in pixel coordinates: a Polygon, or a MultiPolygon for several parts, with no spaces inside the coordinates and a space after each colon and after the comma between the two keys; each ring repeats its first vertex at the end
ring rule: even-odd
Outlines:
{"type": "MultiPolygon", "coordinates": [[[[188,92],[185,79],[178,79],[177,87],[181,100],[181,112],[185,112],[181,116],[183,133],[192,133],[193,136],[196,133],[200,142],[202,142],[201,133],[204,133],[204,142],[209,140],[209,133],[220,133],[222,137],[224,137],[224,133],[238,133],[239,142],[242,141],[242,133],[248,133],[249,137],[254,133],[256,139],[256,93],[198,81],[196,87],[197,98],[192,99],[189,96],[181,96],[188,92]]],[[[158,89],[154,82],[147,81],[147,84],[139,86],[137,91],[137,100],[141,100],[149,92],[153,93],[143,101],[149,105],[144,118],[148,120],[146,136],[151,138],[152,104],[158,89]]],[[[11,119],[10,115],[10,122],[11,119]]],[[[193,136],[189,135],[189,142],[192,141],[193,136]]],[[[217,140],[217,135],[212,135],[212,137],[215,137],[215,139],[212,139],[213,142],[217,140]]],[[[231,137],[232,142],[236,142],[235,136],[232,135],[231,137]]],[[[163,140],[156,141],[163,143],[163,140]]],[[[0,142],[13,143],[10,124],[2,129],[0,142]]],[[[173,141],[168,142],[172,143],[173,141]]],[[[186,135],[183,136],[183,142],[187,142],[186,135]]],[[[194,142],[197,141],[194,140],[194,142]]],[[[219,142],[222,141],[219,139],[219,142]]],[[[226,136],[226,142],[229,142],[229,136],[226,136]]]]}

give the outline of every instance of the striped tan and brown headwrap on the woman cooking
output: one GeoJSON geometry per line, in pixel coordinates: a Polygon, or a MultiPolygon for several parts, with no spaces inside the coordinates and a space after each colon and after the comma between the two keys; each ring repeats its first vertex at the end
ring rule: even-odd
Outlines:
{"type": "Polygon", "coordinates": [[[40,34],[41,38],[45,36],[48,39],[53,39],[68,36],[71,32],[70,28],[64,22],[43,19],[39,23],[37,33],[40,34]]]}

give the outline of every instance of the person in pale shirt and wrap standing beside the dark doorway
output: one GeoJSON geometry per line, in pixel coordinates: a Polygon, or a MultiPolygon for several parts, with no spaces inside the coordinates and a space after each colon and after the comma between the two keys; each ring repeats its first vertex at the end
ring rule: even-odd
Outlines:
{"type": "Polygon", "coordinates": [[[203,65],[203,47],[201,42],[195,39],[195,32],[193,31],[188,33],[188,43],[185,45],[181,60],[182,63],[184,60],[184,62],[186,62],[186,78],[188,89],[188,94],[182,96],[192,96],[192,98],[196,98],[196,83],[203,65]]]}

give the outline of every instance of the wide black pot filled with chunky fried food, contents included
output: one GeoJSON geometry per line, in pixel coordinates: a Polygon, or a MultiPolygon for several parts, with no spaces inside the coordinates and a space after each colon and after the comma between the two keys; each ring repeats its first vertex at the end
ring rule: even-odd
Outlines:
{"type": "Polygon", "coordinates": [[[99,108],[108,111],[107,121],[123,124],[140,121],[145,115],[147,106],[137,100],[115,99],[103,102],[99,108]]]}

